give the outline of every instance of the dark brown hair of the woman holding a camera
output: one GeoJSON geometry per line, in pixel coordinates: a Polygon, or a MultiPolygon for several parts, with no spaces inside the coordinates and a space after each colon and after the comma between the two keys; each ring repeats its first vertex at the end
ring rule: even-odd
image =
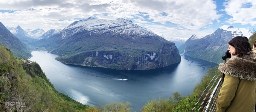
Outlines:
{"type": "Polygon", "coordinates": [[[236,36],[229,41],[229,45],[232,45],[236,48],[236,51],[233,55],[237,55],[237,57],[241,57],[244,54],[248,54],[247,52],[251,50],[251,45],[244,38],[244,36],[236,36]]]}

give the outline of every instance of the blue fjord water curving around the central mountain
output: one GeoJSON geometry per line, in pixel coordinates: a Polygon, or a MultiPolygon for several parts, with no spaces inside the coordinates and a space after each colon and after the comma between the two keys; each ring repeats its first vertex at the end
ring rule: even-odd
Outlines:
{"type": "Polygon", "coordinates": [[[142,109],[152,98],[168,99],[176,91],[181,95],[191,94],[207,69],[217,65],[180,54],[181,62],[168,67],[121,71],[63,64],[55,60],[57,55],[47,51],[31,54],[29,60],[41,66],[59,92],[90,106],[129,101],[133,111],[142,109]]]}

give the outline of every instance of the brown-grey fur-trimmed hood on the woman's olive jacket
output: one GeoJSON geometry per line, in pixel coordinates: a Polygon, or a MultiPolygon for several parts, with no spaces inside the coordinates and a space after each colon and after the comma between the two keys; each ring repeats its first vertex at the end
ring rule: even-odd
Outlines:
{"type": "Polygon", "coordinates": [[[249,51],[240,58],[232,56],[226,63],[219,64],[219,70],[224,74],[246,80],[256,80],[256,54],[249,51]]]}

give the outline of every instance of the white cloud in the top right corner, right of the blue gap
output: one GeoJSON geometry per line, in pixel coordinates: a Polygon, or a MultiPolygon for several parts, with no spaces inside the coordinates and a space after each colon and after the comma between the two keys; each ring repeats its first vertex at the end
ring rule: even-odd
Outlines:
{"type": "Polygon", "coordinates": [[[256,24],[256,0],[230,0],[224,3],[224,6],[224,11],[232,16],[226,21],[227,23],[251,26],[256,24]]]}

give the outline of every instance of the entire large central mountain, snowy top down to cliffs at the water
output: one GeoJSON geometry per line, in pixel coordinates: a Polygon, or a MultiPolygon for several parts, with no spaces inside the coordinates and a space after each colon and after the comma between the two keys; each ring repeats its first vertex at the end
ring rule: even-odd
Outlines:
{"type": "Polygon", "coordinates": [[[118,70],[149,70],[180,62],[173,42],[130,20],[88,18],[34,45],[57,54],[66,64],[118,70]]]}

